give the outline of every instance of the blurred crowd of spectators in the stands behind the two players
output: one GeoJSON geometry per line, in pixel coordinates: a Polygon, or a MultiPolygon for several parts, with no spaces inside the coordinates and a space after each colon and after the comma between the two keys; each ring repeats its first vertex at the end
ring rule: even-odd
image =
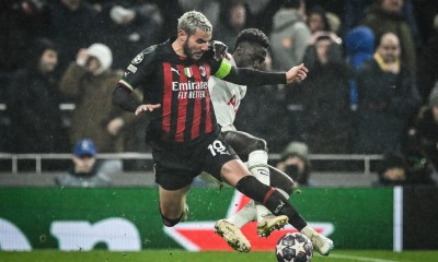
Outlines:
{"type": "Polygon", "coordinates": [[[102,153],[148,151],[146,123],[111,94],[130,60],[175,35],[189,10],[206,14],[230,52],[243,28],[265,32],[264,70],[309,68],[301,84],[250,87],[241,106],[235,126],[272,153],[296,141],[314,154],[381,154],[381,174],[401,166],[403,181],[422,180],[414,167],[437,169],[430,0],[1,1],[0,152],[70,152],[82,139],[102,153]]]}

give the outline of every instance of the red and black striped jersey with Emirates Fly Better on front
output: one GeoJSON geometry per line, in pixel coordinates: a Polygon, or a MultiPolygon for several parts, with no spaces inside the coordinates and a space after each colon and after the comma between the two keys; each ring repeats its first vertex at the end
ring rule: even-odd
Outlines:
{"type": "Polygon", "coordinates": [[[208,92],[210,74],[227,76],[231,66],[206,52],[198,61],[180,57],[173,39],[149,47],[128,66],[119,84],[142,88],[143,104],[161,104],[151,112],[147,139],[165,145],[182,145],[218,131],[208,92]]]}

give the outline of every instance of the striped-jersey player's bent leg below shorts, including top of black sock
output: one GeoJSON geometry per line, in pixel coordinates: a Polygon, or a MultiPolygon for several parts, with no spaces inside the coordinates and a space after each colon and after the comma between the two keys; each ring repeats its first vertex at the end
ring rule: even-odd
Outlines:
{"type": "Polygon", "coordinates": [[[185,202],[191,186],[182,189],[166,190],[159,187],[160,194],[160,214],[164,226],[172,227],[187,217],[188,207],[185,202]]]}

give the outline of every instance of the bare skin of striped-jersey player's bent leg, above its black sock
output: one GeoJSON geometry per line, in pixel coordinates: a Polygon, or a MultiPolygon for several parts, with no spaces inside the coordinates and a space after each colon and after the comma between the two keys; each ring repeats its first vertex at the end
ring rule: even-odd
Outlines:
{"type": "Polygon", "coordinates": [[[176,190],[166,190],[159,187],[160,210],[161,213],[169,218],[177,218],[184,209],[185,198],[191,186],[186,186],[176,190]]]}

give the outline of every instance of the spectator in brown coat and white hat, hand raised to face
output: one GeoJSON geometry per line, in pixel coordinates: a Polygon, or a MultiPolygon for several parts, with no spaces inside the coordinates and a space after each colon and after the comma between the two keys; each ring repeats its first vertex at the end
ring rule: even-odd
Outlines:
{"type": "MultiPolygon", "coordinates": [[[[99,152],[124,150],[123,129],[134,116],[113,107],[112,93],[120,75],[111,70],[112,51],[103,44],[93,44],[78,52],[59,84],[62,94],[76,103],[71,112],[70,142],[91,139],[99,152]]],[[[106,163],[120,160],[106,160],[106,163]]]]}

